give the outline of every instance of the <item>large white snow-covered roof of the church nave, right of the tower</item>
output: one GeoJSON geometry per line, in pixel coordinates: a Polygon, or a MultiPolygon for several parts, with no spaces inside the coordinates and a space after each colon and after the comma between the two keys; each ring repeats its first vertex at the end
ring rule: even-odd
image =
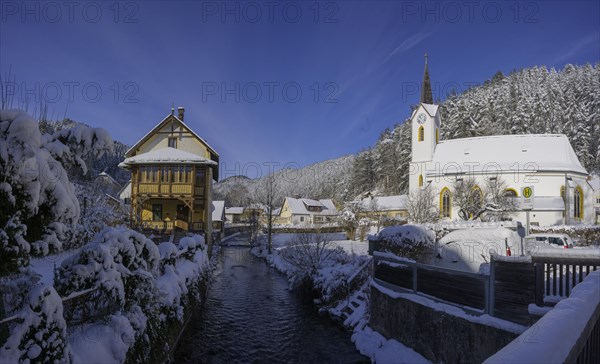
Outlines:
{"type": "Polygon", "coordinates": [[[556,171],[587,174],[562,134],[495,135],[441,141],[431,174],[556,171]]]}

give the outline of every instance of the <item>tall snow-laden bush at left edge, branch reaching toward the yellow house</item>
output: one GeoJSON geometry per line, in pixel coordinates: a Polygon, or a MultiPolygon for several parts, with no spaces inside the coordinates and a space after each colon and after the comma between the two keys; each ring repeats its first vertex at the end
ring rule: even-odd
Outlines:
{"type": "Polygon", "coordinates": [[[27,113],[0,110],[0,274],[27,264],[30,253],[62,249],[80,212],[64,167],[85,168],[85,155],[111,145],[101,129],[42,135],[27,113]]]}

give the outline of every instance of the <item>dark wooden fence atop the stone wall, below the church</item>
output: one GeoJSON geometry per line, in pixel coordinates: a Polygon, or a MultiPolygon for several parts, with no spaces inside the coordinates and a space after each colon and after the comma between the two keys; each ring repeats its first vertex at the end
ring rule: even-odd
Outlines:
{"type": "Polygon", "coordinates": [[[374,252],[373,278],[446,303],[523,325],[534,318],[532,303],[567,297],[572,287],[600,266],[598,258],[505,258],[492,256],[490,274],[469,273],[374,252]],[[552,298],[552,297],[550,297],[552,298]]]}

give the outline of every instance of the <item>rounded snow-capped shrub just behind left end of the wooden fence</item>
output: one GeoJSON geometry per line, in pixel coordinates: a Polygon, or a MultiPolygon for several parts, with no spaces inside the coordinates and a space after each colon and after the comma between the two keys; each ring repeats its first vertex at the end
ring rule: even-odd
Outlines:
{"type": "Polygon", "coordinates": [[[379,250],[417,262],[434,253],[434,239],[432,231],[418,225],[390,226],[369,237],[371,241],[379,241],[379,250]]]}

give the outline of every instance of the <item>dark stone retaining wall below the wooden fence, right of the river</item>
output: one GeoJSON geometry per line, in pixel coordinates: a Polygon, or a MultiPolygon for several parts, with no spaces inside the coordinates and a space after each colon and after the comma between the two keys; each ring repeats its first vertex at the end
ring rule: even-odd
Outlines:
{"type": "Polygon", "coordinates": [[[391,297],[376,285],[371,287],[370,325],[427,359],[445,363],[481,363],[518,336],[407,298],[391,297]]]}

